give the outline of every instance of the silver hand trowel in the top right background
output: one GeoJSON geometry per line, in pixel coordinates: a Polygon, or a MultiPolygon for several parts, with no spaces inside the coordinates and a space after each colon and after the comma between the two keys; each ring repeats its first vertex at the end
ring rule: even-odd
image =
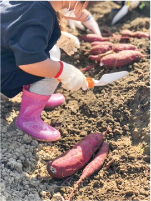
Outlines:
{"type": "Polygon", "coordinates": [[[131,5],[131,0],[128,0],[128,3],[125,4],[119,10],[119,12],[114,16],[114,18],[112,20],[112,25],[114,25],[116,22],[118,22],[120,19],[122,19],[128,13],[130,5],[131,5]]]}

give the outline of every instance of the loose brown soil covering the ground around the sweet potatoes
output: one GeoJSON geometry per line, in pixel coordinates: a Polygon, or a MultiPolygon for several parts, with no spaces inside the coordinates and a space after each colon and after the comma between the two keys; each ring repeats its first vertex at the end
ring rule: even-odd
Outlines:
{"type": "MultiPolygon", "coordinates": [[[[151,33],[150,9],[135,9],[119,23],[111,25],[113,8],[119,5],[105,0],[89,10],[99,23],[102,34],[121,30],[151,33]]],[[[85,32],[70,33],[76,36],[85,32]]],[[[117,41],[113,41],[117,42],[117,41]]],[[[151,54],[151,40],[131,38],[131,44],[151,54]]],[[[81,42],[80,50],[69,57],[62,51],[62,60],[82,69],[94,64],[88,58],[91,44],[81,42]]],[[[42,119],[62,133],[61,140],[41,143],[16,129],[22,93],[12,99],[0,99],[0,201],[67,200],[82,170],[69,178],[53,179],[46,170],[47,162],[71,149],[93,132],[104,132],[109,154],[104,166],[83,181],[74,193],[75,201],[150,201],[151,200],[151,59],[144,57],[118,69],[95,64],[86,76],[101,78],[105,73],[127,70],[129,75],[110,85],[86,92],[69,92],[61,86],[66,102],[44,110],[42,119]]]]}

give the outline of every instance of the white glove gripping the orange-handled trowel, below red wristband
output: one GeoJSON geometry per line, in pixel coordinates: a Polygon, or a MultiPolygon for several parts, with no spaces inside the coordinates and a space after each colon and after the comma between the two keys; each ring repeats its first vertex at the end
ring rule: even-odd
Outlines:
{"type": "Polygon", "coordinates": [[[77,91],[80,88],[88,89],[88,82],[84,74],[74,66],[60,61],[63,71],[58,79],[61,80],[64,89],[77,91]]]}

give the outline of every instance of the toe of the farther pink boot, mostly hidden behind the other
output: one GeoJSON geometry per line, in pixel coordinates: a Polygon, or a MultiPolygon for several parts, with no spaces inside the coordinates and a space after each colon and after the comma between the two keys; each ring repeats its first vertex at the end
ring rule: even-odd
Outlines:
{"type": "Polygon", "coordinates": [[[57,107],[65,102],[65,97],[62,94],[52,94],[47,101],[45,108],[57,107]]]}

